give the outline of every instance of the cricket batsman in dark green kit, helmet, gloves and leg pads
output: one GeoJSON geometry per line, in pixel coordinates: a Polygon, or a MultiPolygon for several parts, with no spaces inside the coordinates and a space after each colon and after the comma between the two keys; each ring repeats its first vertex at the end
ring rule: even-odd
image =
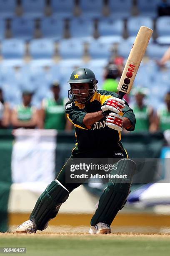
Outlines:
{"type": "Polygon", "coordinates": [[[97,90],[97,79],[92,70],[78,68],[67,83],[69,101],[65,105],[67,118],[75,126],[76,145],[70,159],[38,198],[30,215],[17,229],[17,233],[36,233],[47,228],[55,218],[60,206],[80,183],[65,181],[66,167],[77,158],[110,158],[117,162],[117,174],[127,174],[129,182],[109,179],[97,210],[91,219],[90,234],[111,233],[110,225],[117,212],[122,209],[130,193],[130,185],[136,164],[128,159],[121,143],[121,131],[135,129],[135,115],[125,100],[118,99],[115,92],[97,90]]]}

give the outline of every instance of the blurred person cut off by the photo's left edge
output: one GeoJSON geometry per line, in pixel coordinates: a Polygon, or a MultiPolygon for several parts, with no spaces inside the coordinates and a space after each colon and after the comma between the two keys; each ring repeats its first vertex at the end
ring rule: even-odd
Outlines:
{"type": "Polygon", "coordinates": [[[0,88],[0,129],[8,128],[10,125],[10,105],[4,101],[3,92],[0,88]]]}

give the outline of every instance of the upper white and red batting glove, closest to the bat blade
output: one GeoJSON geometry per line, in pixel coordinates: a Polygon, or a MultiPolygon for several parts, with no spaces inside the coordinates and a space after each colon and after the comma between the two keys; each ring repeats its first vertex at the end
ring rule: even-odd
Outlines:
{"type": "Polygon", "coordinates": [[[123,108],[125,108],[125,101],[112,97],[103,103],[101,110],[102,112],[110,110],[111,112],[119,114],[123,108]]]}

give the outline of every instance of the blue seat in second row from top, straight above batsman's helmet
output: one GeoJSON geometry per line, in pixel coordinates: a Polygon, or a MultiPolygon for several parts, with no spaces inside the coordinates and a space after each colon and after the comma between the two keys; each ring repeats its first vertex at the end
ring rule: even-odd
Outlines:
{"type": "Polygon", "coordinates": [[[81,38],[85,42],[92,40],[94,32],[94,24],[92,21],[84,18],[74,18],[70,21],[70,36],[73,38],[81,38]]]}

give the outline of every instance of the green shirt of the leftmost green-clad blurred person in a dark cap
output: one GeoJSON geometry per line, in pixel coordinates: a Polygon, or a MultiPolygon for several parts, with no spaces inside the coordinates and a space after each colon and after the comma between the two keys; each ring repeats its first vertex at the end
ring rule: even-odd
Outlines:
{"type": "Polygon", "coordinates": [[[20,121],[29,121],[32,118],[35,108],[32,106],[25,107],[24,105],[19,105],[16,107],[18,114],[18,120],[20,121]]]}

